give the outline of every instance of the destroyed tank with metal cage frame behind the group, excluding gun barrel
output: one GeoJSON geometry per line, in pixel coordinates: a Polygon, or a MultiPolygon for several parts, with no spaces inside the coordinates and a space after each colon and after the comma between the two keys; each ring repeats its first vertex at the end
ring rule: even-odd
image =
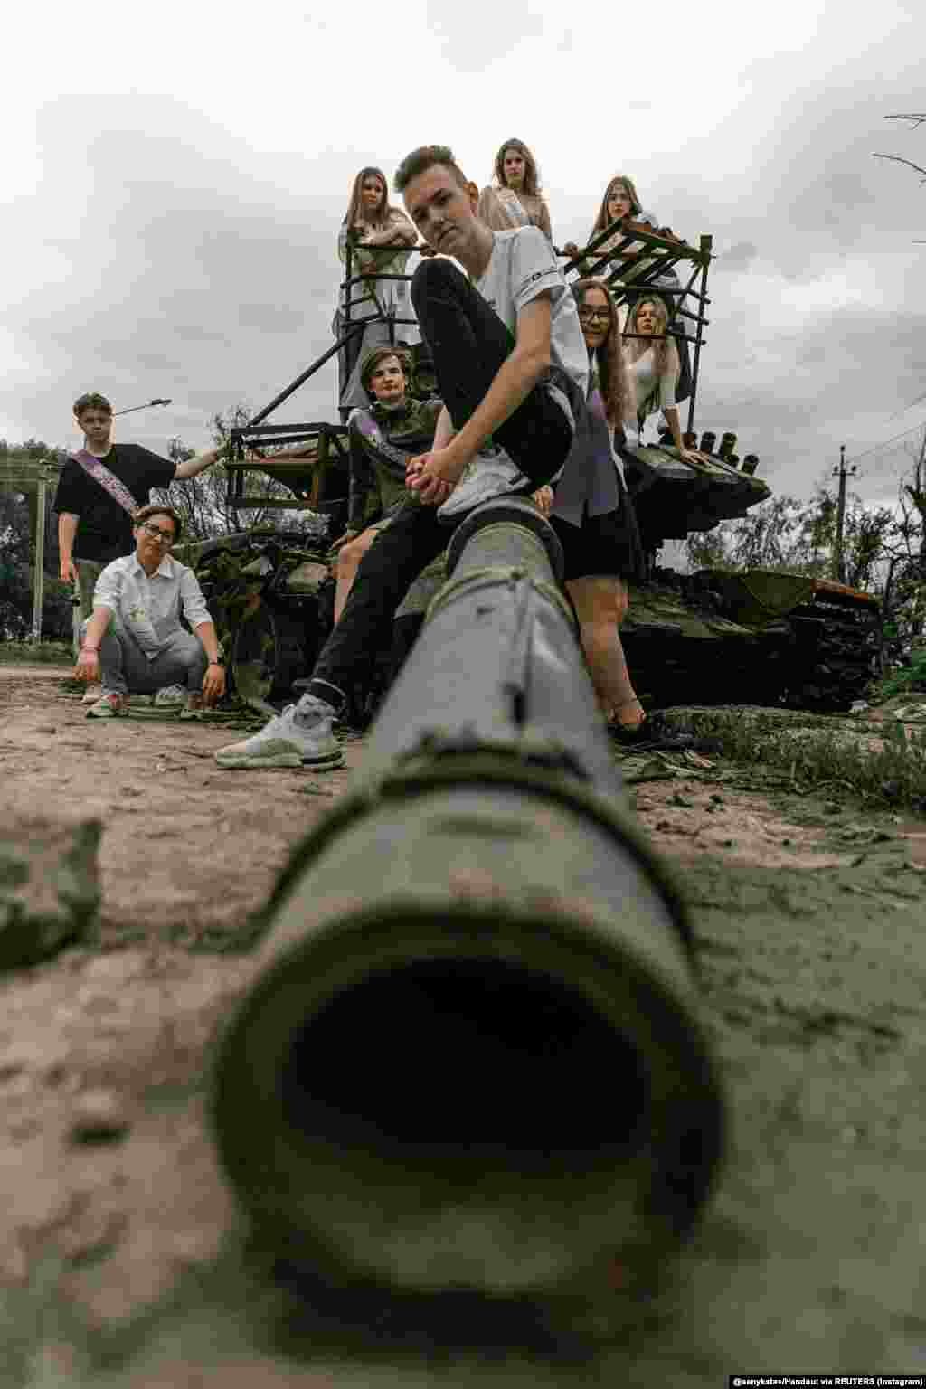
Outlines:
{"type": "MultiPolygon", "coordinates": [[[[619,228],[605,228],[583,253],[583,265],[594,263],[598,243],[619,228]]],[[[686,265],[687,286],[676,293],[672,328],[679,343],[693,344],[689,429],[694,415],[704,328],[707,276],[712,260],[711,238],[697,247],[668,232],[653,232],[634,222],[623,226],[630,249],[621,263],[621,281],[591,264],[591,274],[609,279],[618,301],[657,276],[686,265]],[[682,306],[687,307],[682,307],[682,306]],[[680,325],[680,326],[679,326],[680,325]]],[[[236,510],[267,506],[249,500],[246,476],[261,471],[283,482],[292,500],[275,504],[300,510],[318,519],[293,531],[242,531],[178,553],[197,569],[212,607],[233,688],[258,704],[279,704],[298,690],[317,651],[330,631],[335,581],[329,574],[330,542],[344,529],[350,482],[344,394],[339,400],[342,422],[275,424],[268,415],[314,375],[353,332],[373,322],[351,325],[350,296],[371,276],[353,274],[350,247],[342,290],[346,313],[340,338],[315,363],[276,396],[247,425],[232,431],[228,464],[229,504],[236,510]],[[286,456],[280,444],[297,444],[286,456]]],[[[412,253],[414,254],[414,253],[412,253]]],[[[562,254],[562,253],[561,253],[562,254]]],[[[611,249],[611,256],[615,249],[611,249]]],[[[566,267],[578,274],[578,263],[566,267]]],[[[408,276],[372,276],[396,279],[408,276]]],[[[364,294],[367,289],[361,290],[364,294]]],[[[433,368],[425,344],[415,343],[414,319],[383,315],[383,340],[411,342],[412,393],[435,392],[433,368]]],[[[684,540],[721,521],[743,517],[771,496],[755,476],[758,458],[750,454],[740,465],[736,436],[726,433],[715,449],[716,435],[684,438],[691,450],[682,460],[664,435],[657,444],[633,450],[632,485],[648,560],[647,581],[630,589],[628,617],[621,629],[628,664],[639,693],[651,707],[686,703],[784,704],[820,711],[847,710],[865,693],[877,669],[879,603],[869,593],[826,579],[776,569],[702,569],[679,574],[658,564],[666,540],[684,540]]],[[[394,629],[383,633],[382,657],[371,689],[350,692],[350,717],[364,722],[389,685],[423,621],[428,603],[444,578],[443,556],[412,585],[396,615],[394,629]]]]}

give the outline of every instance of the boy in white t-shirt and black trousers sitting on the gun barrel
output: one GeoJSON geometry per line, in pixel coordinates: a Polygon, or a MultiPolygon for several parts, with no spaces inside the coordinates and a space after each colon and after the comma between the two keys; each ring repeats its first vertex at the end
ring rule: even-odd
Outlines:
{"type": "Polygon", "coordinates": [[[480,222],[479,189],[441,144],[403,160],[396,188],[435,253],[411,283],[444,401],[435,442],[410,460],[412,496],[362,557],[308,692],[260,733],[219,749],[219,767],[330,765],[346,690],[372,669],[396,608],[446,547],[448,528],[480,501],[554,479],[584,410],[589,353],[543,232],[493,232],[480,222]]]}

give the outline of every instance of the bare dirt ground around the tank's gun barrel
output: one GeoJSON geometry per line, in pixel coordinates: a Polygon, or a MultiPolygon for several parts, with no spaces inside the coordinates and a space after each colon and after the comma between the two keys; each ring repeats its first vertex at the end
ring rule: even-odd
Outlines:
{"type": "Polygon", "coordinates": [[[693,908],[725,1172],[630,1317],[603,1303],[555,1343],[461,1328],[422,1349],[265,1275],[204,1118],[251,914],[362,745],[323,776],[219,772],[240,735],[94,724],[62,674],[0,665],[6,822],[104,826],[99,939],[0,982],[0,1383],[708,1389],[926,1368],[926,822],[761,767],[626,761],[693,908]]]}

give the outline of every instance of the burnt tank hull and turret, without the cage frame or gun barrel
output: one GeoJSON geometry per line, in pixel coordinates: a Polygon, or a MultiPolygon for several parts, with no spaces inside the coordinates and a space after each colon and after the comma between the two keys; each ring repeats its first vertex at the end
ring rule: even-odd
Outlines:
{"type": "MultiPolygon", "coordinates": [[[[664,446],[628,460],[644,549],[711,531],[771,496],[761,478],[712,454],[683,461],[664,446]]],[[[304,535],[239,532],[178,549],[215,615],[239,696],[280,704],[304,679],[333,621],[325,546],[304,535]]],[[[383,633],[368,689],[348,692],[348,720],[365,724],[411,650],[446,579],[439,556],[383,633]]],[[[651,707],[765,704],[843,711],[877,672],[879,603],[845,585],[777,569],[677,574],[651,564],[629,592],[621,628],[632,679],[651,707]]]]}

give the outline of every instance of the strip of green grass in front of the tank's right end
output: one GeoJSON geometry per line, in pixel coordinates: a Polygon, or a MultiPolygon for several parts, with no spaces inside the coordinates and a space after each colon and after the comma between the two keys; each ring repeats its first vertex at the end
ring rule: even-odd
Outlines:
{"type": "Polygon", "coordinates": [[[840,721],[839,728],[783,726],[761,713],[743,718],[729,710],[701,710],[697,732],[722,757],[789,774],[795,790],[848,789],[872,807],[905,807],[926,814],[926,729],[907,736],[902,724],[880,726],[840,721]],[[880,749],[869,747],[879,738],[880,749]]]}

